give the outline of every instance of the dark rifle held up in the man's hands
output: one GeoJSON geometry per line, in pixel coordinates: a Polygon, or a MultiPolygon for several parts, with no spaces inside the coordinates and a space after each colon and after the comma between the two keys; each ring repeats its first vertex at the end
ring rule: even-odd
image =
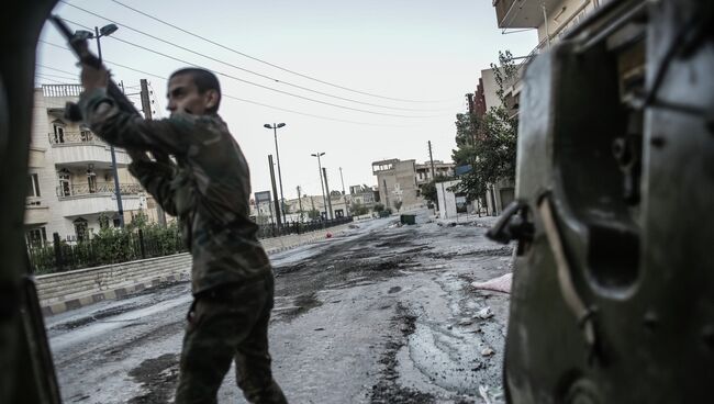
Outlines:
{"type": "MultiPolygon", "coordinates": [[[[69,45],[70,49],[74,52],[74,54],[77,56],[79,59],[79,63],[82,65],[91,66],[93,68],[102,68],[102,61],[97,57],[94,54],[92,54],[89,50],[89,45],[87,43],[88,36],[87,35],[79,35],[77,33],[72,33],[69,26],[65,23],[65,21],[59,18],[58,15],[51,15],[49,21],[55,24],[57,27],[57,31],[67,40],[67,44],[69,45]]],[[[130,114],[141,116],[136,108],[134,108],[134,104],[126,98],[124,92],[120,90],[119,86],[112,80],[110,77],[108,80],[107,85],[107,94],[114,100],[114,103],[116,106],[124,112],[127,112],[130,114]]],[[[77,105],[74,102],[68,101],[66,106],[65,106],[65,117],[71,122],[81,122],[83,121],[83,116],[81,115],[81,110],[79,109],[79,105],[77,105]]],[[[136,150],[136,149],[131,149],[131,148],[125,148],[126,153],[132,157],[133,160],[148,160],[148,157],[146,156],[146,153],[144,150],[136,150]]],[[[168,164],[170,160],[168,156],[166,156],[163,153],[157,153],[155,150],[152,150],[152,154],[154,155],[154,158],[157,161],[168,164]]]]}

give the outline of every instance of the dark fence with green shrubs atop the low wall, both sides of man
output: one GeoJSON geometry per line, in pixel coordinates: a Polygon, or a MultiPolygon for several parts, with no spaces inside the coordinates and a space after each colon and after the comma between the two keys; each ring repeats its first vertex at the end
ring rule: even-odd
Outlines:
{"type": "MultiPolygon", "coordinates": [[[[264,225],[258,229],[259,238],[302,234],[338,226],[352,222],[352,217],[309,223],[292,222],[282,228],[264,225]]],[[[80,268],[121,263],[137,259],[163,257],[188,249],[176,226],[161,228],[152,226],[133,233],[129,231],[108,232],[90,240],[68,244],[53,235],[54,243],[45,246],[30,246],[27,257],[35,274],[63,272],[80,268]]]]}

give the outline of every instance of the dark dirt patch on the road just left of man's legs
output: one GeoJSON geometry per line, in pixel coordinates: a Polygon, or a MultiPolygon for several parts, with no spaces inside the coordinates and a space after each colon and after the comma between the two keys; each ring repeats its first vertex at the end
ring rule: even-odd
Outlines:
{"type": "Polygon", "coordinates": [[[129,401],[130,404],[168,403],[174,397],[178,382],[178,354],[165,354],[158,358],[147,359],[132,369],[129,375],[134,378],[148,393],[129,401]]]}

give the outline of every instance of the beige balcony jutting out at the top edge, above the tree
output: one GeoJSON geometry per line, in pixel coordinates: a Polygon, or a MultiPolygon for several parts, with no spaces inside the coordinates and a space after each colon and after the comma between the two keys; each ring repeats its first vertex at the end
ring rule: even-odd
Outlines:
{"type": "Polygon", "coordinates": [[[544,23],[544,11],[554,10],[562,0],[493,0],[500,29],[537,29],[544,23]]]}

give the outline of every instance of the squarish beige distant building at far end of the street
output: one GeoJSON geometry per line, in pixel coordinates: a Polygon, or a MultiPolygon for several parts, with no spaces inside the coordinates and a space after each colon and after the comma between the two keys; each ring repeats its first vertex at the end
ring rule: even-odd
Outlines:
{"type": "Polygon", "coordinates": [[[386,207],[395,210],[398,201],[402,203],[401,209],[423,204],[416,186],[416,160],[392,158],[375,161],[372,173],[377,176],[380,203],[386,207]]]}

